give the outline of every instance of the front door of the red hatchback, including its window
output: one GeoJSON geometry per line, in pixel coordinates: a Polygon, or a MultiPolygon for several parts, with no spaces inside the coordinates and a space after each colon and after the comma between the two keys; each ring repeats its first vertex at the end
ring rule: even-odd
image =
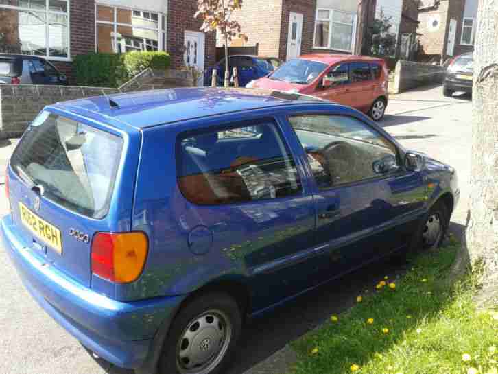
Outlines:
{"type": "Polygon", "coordinates": [[[324,80],[328,80],[329,85],[324,86],[323,81],[319,82],[313,96],[351,106],[353,96],[350,87],[349,65],[347,63],[331,67],[324,75],[324,80]]]}

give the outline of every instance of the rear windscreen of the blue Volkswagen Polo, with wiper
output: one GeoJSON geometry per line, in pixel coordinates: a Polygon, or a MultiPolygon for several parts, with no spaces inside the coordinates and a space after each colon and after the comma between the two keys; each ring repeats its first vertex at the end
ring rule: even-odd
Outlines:
{"type": "Polygon", "coordinates": [[[43,196],[91,218],[107,214],[123,140],[44,111],[26,130],[14,154],[14,172],[43,196]]]}

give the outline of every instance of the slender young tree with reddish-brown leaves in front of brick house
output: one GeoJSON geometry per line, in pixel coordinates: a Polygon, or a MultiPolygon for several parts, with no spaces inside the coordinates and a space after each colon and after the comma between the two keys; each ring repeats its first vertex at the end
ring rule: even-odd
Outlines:
{"type": "Polygon", "coordinates": [[[228,65],[228,41],[235,36],[247,37],[241,33],[241,27],[237,21],[230,20],[235,10],[242,8],[242,0],[198,0],[197,12],[194,17],[202,19],[203,32],[218,31],[225,40],[225,86],[230,78],[230,66],[228,65]]]}

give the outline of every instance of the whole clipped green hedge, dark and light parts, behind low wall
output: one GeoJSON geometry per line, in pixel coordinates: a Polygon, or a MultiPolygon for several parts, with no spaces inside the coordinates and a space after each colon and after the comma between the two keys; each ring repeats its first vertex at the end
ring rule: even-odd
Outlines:
{"type": "Polygon", "coordinates": [[[78,55],[74,60],[76,82],[79,86],[117,87],[149,67],[166,69],[170,61],[165,52],[78,55]]]}

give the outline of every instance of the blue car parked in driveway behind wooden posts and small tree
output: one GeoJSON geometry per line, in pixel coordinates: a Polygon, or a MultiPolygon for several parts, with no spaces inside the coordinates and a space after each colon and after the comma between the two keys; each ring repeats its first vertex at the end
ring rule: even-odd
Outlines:
{"type": "MultiPolygon", "coordinates": [[[[233,80],[233,68],[237,68],[239,74],[239,86],[245,87],[252,80],[263,78],[277,69],[282,62],[274,57],[258,57],[248,55],[233,55],[228,58],[230,66],[230,81],[233,80]]],[[[217,85],[224,85],[225,59],[223,58],[214,67],[206,70],[204,83],[211,86],[213,70],[217,71],[217,85]]]]}

